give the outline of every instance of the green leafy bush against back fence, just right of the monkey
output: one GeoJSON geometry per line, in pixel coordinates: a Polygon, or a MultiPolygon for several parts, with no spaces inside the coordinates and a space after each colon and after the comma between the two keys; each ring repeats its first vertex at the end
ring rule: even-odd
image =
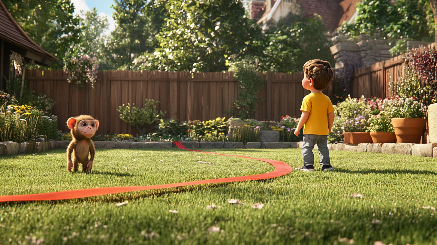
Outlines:
{"type": "Polygon", "coordinates": [[[117,111],[120,112],[120,119],[129,123],[132,127],[137,129],[141,135],[146,135],[150,125],[155,123],[156,119],[162,117],[165,112],[158,112],[156,105],[159,101],[153,99],[146,99],[144,108],[135,107],[135,104],[118,106],[117,111]]]}

